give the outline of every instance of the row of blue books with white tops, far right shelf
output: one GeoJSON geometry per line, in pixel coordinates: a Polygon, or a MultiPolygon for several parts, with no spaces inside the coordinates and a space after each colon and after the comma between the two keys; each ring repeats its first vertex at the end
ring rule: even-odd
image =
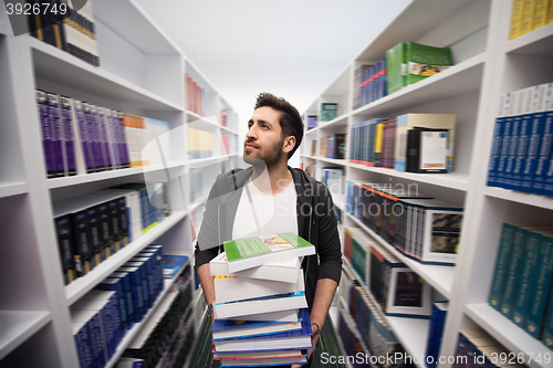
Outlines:
{"type": "Polygon", "coordinates": [[[487,185],[552,197],[552,133],[553,83],[503,94],[487,185]]]}

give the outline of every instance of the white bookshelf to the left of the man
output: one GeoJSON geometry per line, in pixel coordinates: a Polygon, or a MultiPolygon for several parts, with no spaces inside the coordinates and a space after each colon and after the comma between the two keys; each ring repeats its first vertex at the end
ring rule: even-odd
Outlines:
{"type": "MultiPolygon", "coordinates": [[[[165,254],[192,255],[189,209],[205,201],[210,183],[238,162],[238,115],[192,61],[133,0],[94,0],[101,66],[92,66],[29,34],[13,36],[0,9],[0,367],[79,367],[69,308],[81,296],[152,243],[165,254]],[[186,107],[185,74],[205,90],[204,114],[186,107]],[[152,166],[46,179],[34,90],[64,94],[98,106],[168,123],[170,160],[152,166]],[[219,112],[227,113],[221,126],[219,112]],[[212,157],[187,157],[186,127],[211,133],[212,157]],[[229,150],[220,151],[221,135],[229,150]],[[202,172],[202,197],[190,201],[191,169],[202,172]],[[80,197],[125,182],[164,182],[171,213],[108,257],[92,272],[64,286],[53,223],[53,201],[80,197]],[[9,246],[8,246],[9,245],[9,246]]],[[[75,143],[76,150],[81,147],[75,143]]],[[[158,296],[140,324],[127,332],[114,367],[168,293],[158,296]]],[[[201,292],[194,308],[201,311],[201,292]]],[[[197,326],[195,326],[197,328],[197,326]]]]}

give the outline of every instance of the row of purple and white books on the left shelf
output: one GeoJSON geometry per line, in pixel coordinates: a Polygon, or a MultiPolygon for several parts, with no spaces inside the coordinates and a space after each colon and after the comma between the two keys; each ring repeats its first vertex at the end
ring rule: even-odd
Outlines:
{"type": "MultiPolygon", "coordinates": [[[[147,143],[169,130],[165,122],[50,92],[36,90],[35,99],[48,178],[148,166],[157,145],[147,143]]],[[[170,151],[168,139],[164,148],[170,151]]]]}

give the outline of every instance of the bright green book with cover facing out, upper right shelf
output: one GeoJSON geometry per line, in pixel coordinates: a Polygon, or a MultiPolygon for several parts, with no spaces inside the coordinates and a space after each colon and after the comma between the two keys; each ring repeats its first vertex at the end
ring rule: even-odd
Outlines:
{"type": "Polygon", "coordinates": [[[453,65],[451,50],[448,48],[406,42],[405,53],[407,84],[422,81],[453,65]]]}

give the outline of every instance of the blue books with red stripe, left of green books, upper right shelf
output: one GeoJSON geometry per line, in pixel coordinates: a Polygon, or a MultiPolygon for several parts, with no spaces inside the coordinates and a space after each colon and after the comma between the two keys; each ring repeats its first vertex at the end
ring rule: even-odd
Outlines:
{"type": "Polygon", "coordinates": [[[355,71],[354,109],[388,95],[386,66],[386,57],[384,57],[375,65],[362,65],[355,71]]]}

